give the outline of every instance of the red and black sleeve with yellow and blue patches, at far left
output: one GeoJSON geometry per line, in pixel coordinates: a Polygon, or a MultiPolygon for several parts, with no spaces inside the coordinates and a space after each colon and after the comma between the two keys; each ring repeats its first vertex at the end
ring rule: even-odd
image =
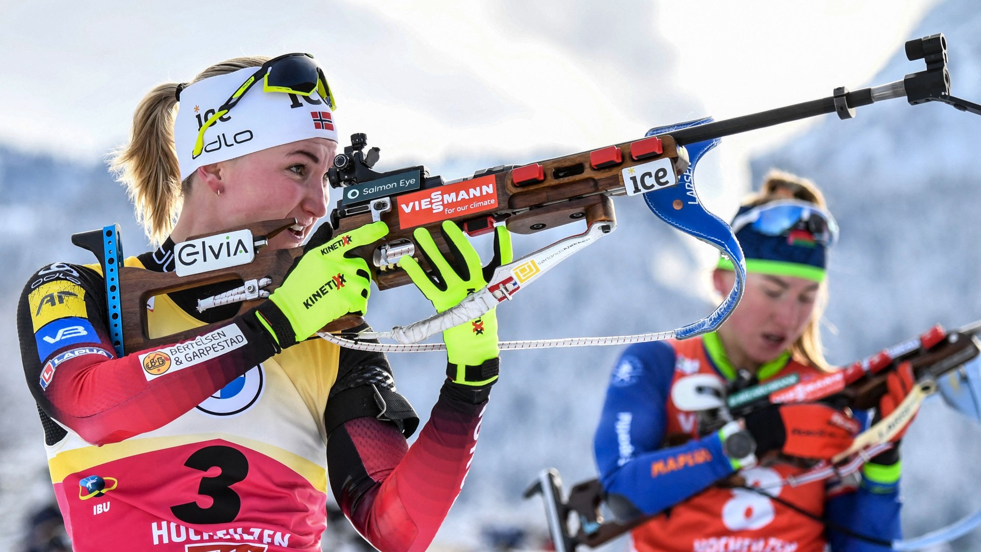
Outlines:
{"type": "Polygon", "coordinates": [[[86,442],[114,443],[161,427],[275,353],[246,314],[195,339],[119,359],[106,330],[103,286],[95,272],[58,263],[31,277],[17,312],[34,399],[86,442]]]}

